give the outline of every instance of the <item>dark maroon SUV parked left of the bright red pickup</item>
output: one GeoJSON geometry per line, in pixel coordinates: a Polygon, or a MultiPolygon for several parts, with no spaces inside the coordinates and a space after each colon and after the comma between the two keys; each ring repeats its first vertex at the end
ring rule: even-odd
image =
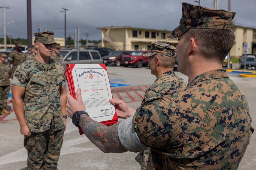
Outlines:
{"type": "Polygon", "coordinates": [[[103,57],[103,63],[107,66],[108,64],[114,64],[115,66],[121,66],[122,65],[122,56],[128,55],[132,53],[133,51],[113,51],[109,53],[109,55],[106,55],[103,57]]]}

